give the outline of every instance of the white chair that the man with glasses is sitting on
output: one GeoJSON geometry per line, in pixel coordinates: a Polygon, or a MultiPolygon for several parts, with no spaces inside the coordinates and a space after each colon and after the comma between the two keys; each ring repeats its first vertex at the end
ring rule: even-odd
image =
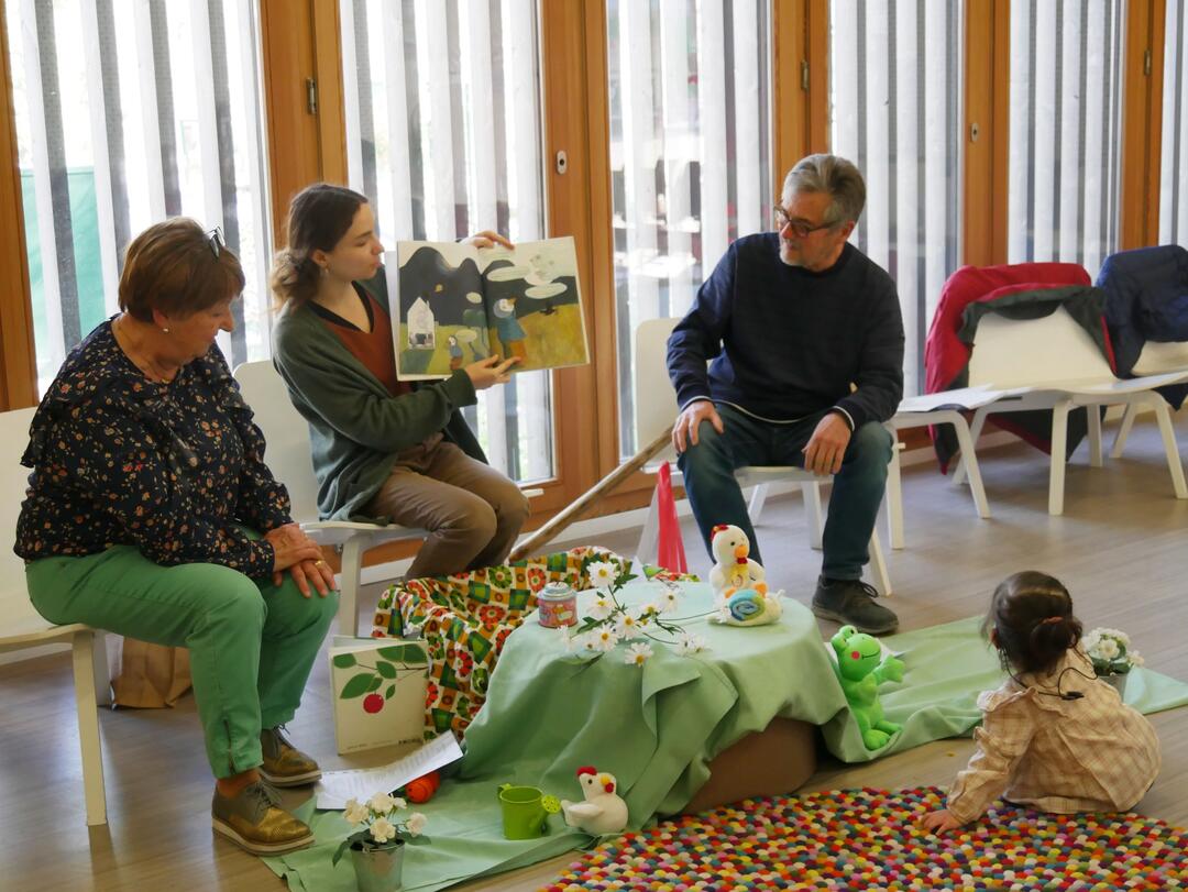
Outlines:
{"type": "MultiPolygon", "coordinates": [[[[668,377],[668,339],[672,333],[677,318],[650,320],[639,324],[636,329],[634,360],[636,360],[636,432],[638,442],[650,443],[664,432],[666,425],[672,424],[677,416],[676,392],[669,384],[668,377]]],[[[892,450],[892,462],[898,458],[898,450],[892,450]]],[[[661,453],[659,461],[644,468],[645,472],[656,473],[659,462],[672,461],[675,456],[671,449],[661,453]]],[[[821,532],[823,529],[823,512],[821,510],[821,480],[817,475],[796,467],[746,467],[734,472],[734,477],[744,489],[754,487],[747,511],[752,523],[763,510],[766,498],[766,487],[771,483],[788,482],[798,483],[804,494],[804,506],[808,510],[809,543],[814,549],[821,548],[821,532]]],[[[672,469],[674,483],[681,482],[681,473],[672,469]]],[[[659,508],[656,495],[652,494],[652,504],[647,510],[647,518],[644,520],[644,529],[639,538],[637,557],[640,561],[651,559],[656,553],[658,534],[659,508]]],[[[891,580],[887,576],[886,562],[883,558],[883,548],[879,543],[877,531],[871,533],[871,569],[874,574],[874,587],[887,596],[891,594],[891,580]]]]}

